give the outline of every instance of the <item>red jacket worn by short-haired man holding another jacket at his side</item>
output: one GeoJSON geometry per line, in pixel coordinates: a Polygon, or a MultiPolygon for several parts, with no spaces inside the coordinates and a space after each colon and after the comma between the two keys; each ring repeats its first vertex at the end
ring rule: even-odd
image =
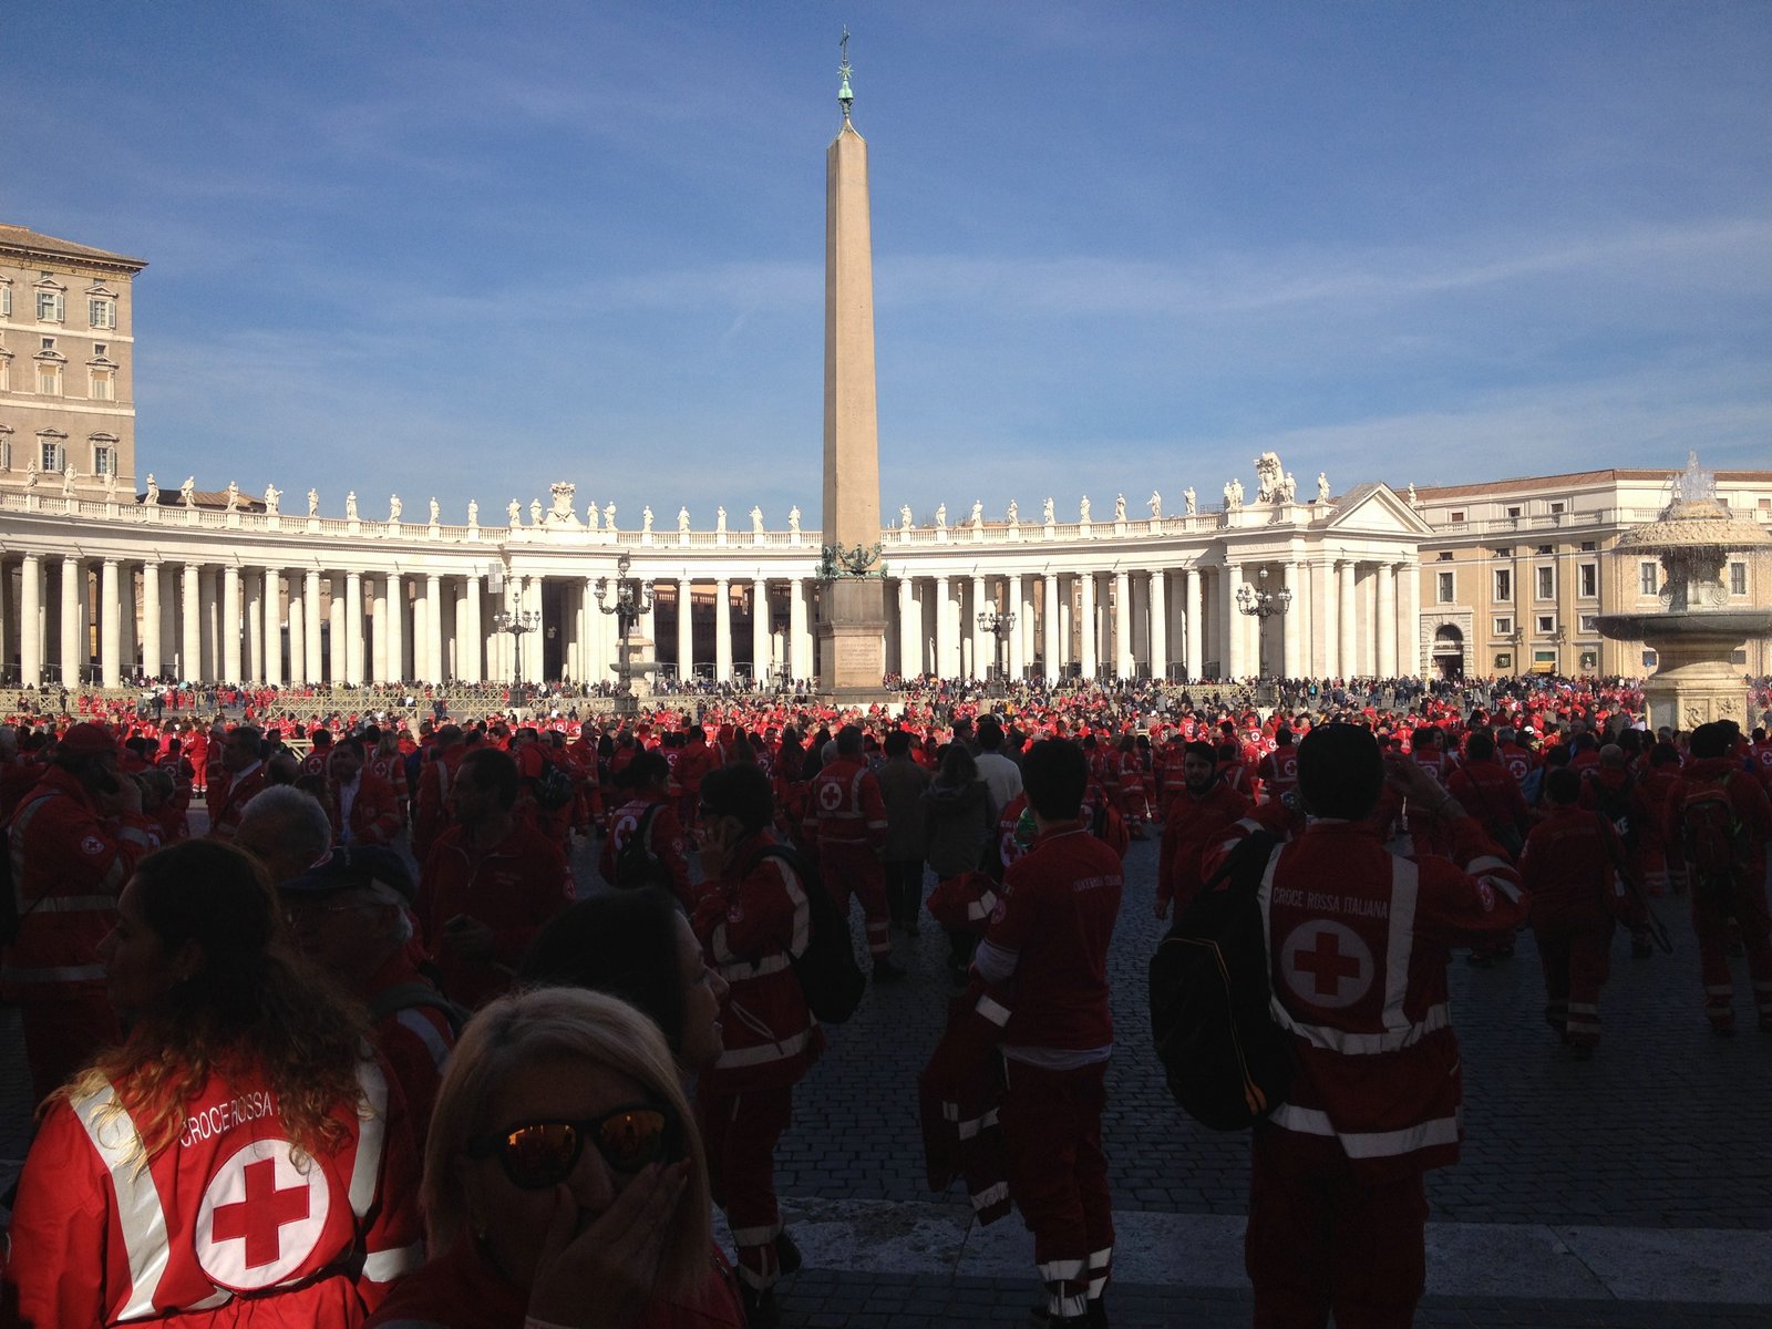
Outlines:
{"type": "Polygon", "coordinates": [[[1049,826],[1003,874],[983,944],[1015,957],[1005,1047],[1113,1045],[1108,946],[1123,884],[1120,858],[1081,820],[1049,826]]]}

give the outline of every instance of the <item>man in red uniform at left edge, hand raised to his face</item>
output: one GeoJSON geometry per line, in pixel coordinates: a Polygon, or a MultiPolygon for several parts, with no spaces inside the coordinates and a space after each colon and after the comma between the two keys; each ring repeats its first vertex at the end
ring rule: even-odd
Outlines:
{"type": "Polygon", "coordinates": [[[97,946],[117,897],[152,845],[140,787],[119,774],[103,725],[74,725],[7,831],[18,941],[0,994],[19,1005],[32,1102],[122,1037],[97,946]]]}

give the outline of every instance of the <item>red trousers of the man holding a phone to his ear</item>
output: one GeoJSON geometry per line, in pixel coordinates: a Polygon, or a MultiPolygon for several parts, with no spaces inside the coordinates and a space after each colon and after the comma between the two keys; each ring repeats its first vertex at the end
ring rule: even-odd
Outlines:
{"type": "Polygon", "coordinates": [[[707,1180],[727,1216],[739,1253],[739,1278],[758,1292],[781,1272],[774,1239],[781,1212],[774,1200],[774,1146],[794,1118],[794,1088],[695,1095],[707,1150],[707,1180]]]}

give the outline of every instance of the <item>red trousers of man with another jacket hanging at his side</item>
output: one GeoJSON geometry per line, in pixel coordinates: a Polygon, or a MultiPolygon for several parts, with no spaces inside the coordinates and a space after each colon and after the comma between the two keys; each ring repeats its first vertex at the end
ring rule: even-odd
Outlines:
{"type": "Polygon", "coordinates": [[[1108,1063],[1045,1070],[1005,1058],[998,1120],[1008,1193],[1033,1233],[1054,1320],[1088,1315],[1113,1272],[1113,1203],[1102,1154],[1108,1063]]]}

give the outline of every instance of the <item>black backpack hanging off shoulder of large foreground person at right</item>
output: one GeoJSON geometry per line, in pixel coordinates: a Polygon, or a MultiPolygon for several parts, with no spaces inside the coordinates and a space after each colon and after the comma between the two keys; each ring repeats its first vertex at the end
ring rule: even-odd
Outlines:
{"type": "Polygon", "coordinates": [[[1157,1060],[1175,1102],[1212,1131],[1247,1131],[1292,1084],[1290,1037],[1271,1014],[1267,921],[1256,898],[1278,847],[1265,831],[1237,845],[1150,957],[1157,1060]]]}

